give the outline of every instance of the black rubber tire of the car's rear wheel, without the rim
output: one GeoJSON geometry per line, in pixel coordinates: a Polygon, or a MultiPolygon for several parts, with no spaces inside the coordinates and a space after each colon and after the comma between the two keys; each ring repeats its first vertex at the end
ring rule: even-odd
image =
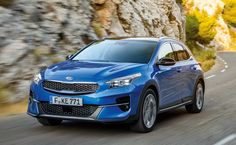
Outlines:
{"type": "Polygon", "coordinates": [[[204,87],[203,87],[203,83],[202,82],[198,82],[196,87],[195,87],[195,90],[194,90],[194,97],[193,97],[193,101],[191,104],[188,104],[185,106],[186,108],[186,111],[189,112],[189,113],[200,113],[202,111],[202,108],[203,108],[203,104],[204,104],[204,87]],[[197,99],[197,91],[198,91],[198,87],[201,87],[202,88],[202,105],[201,107],[198,106],[198,99],[197,99]]]}

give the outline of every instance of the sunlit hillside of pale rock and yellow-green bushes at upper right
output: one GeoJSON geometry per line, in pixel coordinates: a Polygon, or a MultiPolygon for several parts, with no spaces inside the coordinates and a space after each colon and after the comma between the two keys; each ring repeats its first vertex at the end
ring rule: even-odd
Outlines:
{"type": "Polygon", "coordinates": [[[183,0],[187,39],[217,50],[231,49],[236,26],[236,0],[183,0]]]}

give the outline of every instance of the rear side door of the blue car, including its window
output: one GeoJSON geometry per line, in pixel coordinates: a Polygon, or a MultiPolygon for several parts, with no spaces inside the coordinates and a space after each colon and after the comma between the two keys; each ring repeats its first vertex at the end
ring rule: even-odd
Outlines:
{"type": "Polygon", "coordinates": [[[171,43],[177,57],[176,68],[179,75],[178,90],[176,95],[179,99],[186,101],[191,97],[191,60],[187,50],[179,43],[171,43]]]}

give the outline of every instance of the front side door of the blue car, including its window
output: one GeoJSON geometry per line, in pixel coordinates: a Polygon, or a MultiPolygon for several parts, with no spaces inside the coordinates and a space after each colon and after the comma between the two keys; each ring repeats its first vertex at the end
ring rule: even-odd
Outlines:
{"type": "MultiPolygon", "coordinates": [[[[175,58],[175,54],[169,42],[162,44],[159,48],[157,61],[162,58],[175,58]]],[[[176,65],[163,66],[157,65],[155,79],[159,84],[160,109],[179,103],[177,95],[177,86],[179,83],[179,73],[176,65]]]]}

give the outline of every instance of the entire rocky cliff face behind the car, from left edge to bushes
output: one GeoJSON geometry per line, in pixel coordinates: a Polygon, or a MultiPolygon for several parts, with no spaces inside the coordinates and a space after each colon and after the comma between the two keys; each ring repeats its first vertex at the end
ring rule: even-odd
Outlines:
{"type": "Polygon", "coordinates": [[[6,101],[24,98],[42,64],[61,61],[94,39],[184,40],[184,22],[175,0],[17,0],[0,6],[0,95],[5,89],[6,101]]]}

